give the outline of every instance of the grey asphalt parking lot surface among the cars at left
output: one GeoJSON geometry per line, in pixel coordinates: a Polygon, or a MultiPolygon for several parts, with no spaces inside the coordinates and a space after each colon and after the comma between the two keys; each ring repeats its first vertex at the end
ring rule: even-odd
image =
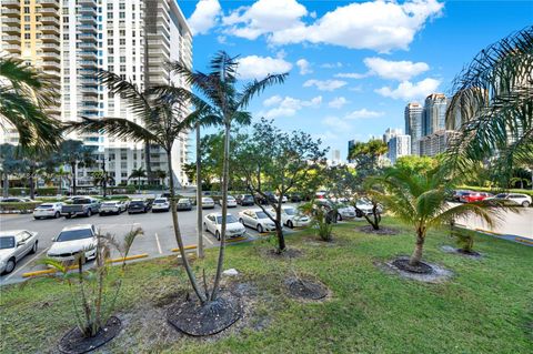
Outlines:
{"type": "MultiPolygon", "coordinates": [[[[235,218],[241,210],[251,206],[237,206],[228,211],[235,218]]],[[[221,206],[215,205],[213,209],[203,211],[203,215],[212,212],[221,212],[221,206]]],[[[180,230],[183,235],[183,241],[187,245],[197,244],[197,212],[195,208],[192,211],[180,211],[178,213],[180,222],[180,230]]],[[[122,213],[120,215],[91,218],[72,218],[72,219],[46,219],[34,220],[31,214],[12,214],[0,215],[0,229],[7,230],[29,230],[39,233],[39,250],[37,254],[29,254],[17,264],[16,270],[7,275],[0,276],[0,284],[16,283],[22,280],[22,273],[32,272],[43,269],[42,265],[36,264],[36,261],[46,255],[46,252],[52,243],[52,237],[57,236],[64,226],[72,226],[77,224],[94,224],[102,234],[110,233],[117,240],[134,227],[142,227],[144,234],[135,239],[130,251],[130,255],[148,253],[149,257],[162,256],[173,254],[172,249],[178,247],[172,229],[172,219],[170,212],[147,214],[131,214],[122,213]]],[[[290,232],[288,229],[286,232],[290,232]]],[[[247,240],[257,239],[259,233],[250,227],[247,227],[247,240]]],[[[203,231],[203,243],[205,247],[218,246],[219,242],[209,232],[203,231]]],[[[174,253],[177,254],[177,253],[174,253]]],[[[112,256],[119,256],[118,252],[113,252],[112,256]]]]}

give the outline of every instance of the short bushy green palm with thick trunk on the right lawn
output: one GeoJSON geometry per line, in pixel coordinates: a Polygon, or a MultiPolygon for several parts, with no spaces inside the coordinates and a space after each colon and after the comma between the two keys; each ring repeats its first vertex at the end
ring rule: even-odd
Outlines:
{"type": "MultiPolygon", "coordinates": [[[[456,206],[447,204],[452,185],[444,179],[442,170],[414,173],[404,169],[390,169],[384,175],[371,178],[381,184],[385,192],[378,198],[395,216],[409,225],[414,225],[416,243],[409,263],[419,265],[425,236],[431,229],[450,224],[457,218],[476,215],[493,226],[500,216],[502,205],[487,202],[465,203],[456,206]]],[[[378,192],[375,192],[378,194],[378,192]]]]}

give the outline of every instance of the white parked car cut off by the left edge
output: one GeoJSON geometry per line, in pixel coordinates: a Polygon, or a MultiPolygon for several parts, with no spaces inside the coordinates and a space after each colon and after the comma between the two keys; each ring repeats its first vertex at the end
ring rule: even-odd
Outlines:
{"type": "Polygon", "coordinates": [[[17,263],[29,253],[36,253],[37,232],[28,230],[0,231],[0,274],[11,273],[17,263]]]}

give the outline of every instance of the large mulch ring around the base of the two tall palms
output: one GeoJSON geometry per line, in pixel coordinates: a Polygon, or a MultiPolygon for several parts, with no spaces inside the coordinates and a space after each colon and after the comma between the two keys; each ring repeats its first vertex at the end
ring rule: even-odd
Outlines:
{"type": "Polygon", "coordinates": [[[191,296],[167,310],[167,321],[192,336],[213,335],[224,331],[242,316],[240,299],[232,293],[221,293],[218,299],[201,305],[191,296]]]}

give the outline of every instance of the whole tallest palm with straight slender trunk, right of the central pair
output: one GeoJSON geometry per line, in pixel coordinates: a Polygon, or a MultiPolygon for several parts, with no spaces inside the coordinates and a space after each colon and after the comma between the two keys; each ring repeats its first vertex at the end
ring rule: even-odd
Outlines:
{"type": "Polygon", "coordinates": [[[251,115],[244,110],[250,101],[264,89],[276,83],[283,83],[288,73],[269,74],[266,78],[258,81],[253,80],[243,85],[239,91],[238,85],[238,67],[239,62],[235,58],[231,58],[224,51],[220,51],[211,59],[209,73],[191,71],[185,64],[180,62],[172,63],[173,72],[185,78],[188,84],[195,88],[202,95],[203,100],[194,98],[193,102],[200,102],[202,105],[210,107],[210,114],[218,119],[218,122],[224,128],[224,159],[222,168],[222,231],[220,235],[219,261],[217,265],[217,274],[214,277],[213,290],[210,300],[217,299],[219,291],[222,267],[224,264],[225,249],[225,225],[228,219],[228,183],[229,183],[229,162],[230,162],[230,132],[233,122],[249,124],[251,115]]]}

